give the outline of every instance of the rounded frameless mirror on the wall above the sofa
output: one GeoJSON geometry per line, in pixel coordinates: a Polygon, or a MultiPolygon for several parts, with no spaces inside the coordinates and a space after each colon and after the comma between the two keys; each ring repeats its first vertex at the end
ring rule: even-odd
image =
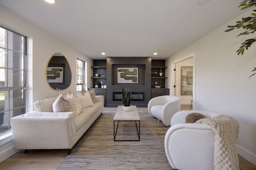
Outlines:
{"type": "Polygon", "coordinates": [[[63,90],[70,86],[70,66],[61,53],[55,53],[49,60],[46,67],[46,80],[49,86],[55,90],[63,90]]]}

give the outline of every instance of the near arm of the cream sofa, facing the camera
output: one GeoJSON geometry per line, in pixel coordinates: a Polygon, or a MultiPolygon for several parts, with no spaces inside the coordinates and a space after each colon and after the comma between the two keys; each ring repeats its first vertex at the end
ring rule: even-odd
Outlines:
{"type": "Polygon", "coordinates": [[[48,116],[40,116],[42,112],[26,114],[10,119],[16,149],[71,149],[73,147],[72,137],[75,135],[75,126],[72,125],[72,117],[74,113],[63,113],[63,116],[60,116],[62,113],[48,113],[48,116]],[[54,114],[59,115],[54,116],[54,114]]]}

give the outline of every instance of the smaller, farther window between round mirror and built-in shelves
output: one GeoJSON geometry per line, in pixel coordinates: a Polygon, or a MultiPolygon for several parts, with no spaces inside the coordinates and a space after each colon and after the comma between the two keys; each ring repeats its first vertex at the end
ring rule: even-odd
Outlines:
{"type": "Polygon", "coordinates": [[[81,59],[76,59],[76,91],[82,92],[83,88],[85,88],[84,84],[84,73],[85,73],[85,67],[84,67],[84,61],[81,59]]]}

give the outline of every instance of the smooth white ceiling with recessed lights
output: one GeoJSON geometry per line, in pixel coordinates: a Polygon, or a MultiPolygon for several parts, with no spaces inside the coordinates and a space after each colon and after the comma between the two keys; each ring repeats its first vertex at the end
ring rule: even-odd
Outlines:
{"type": "Polygon", "coordinates": [[[92,59],[166,59],[245,12],[238,8],[240,2],[56,0],[51,5],[44,0],[0,0],[2,6],[92,59]]]}

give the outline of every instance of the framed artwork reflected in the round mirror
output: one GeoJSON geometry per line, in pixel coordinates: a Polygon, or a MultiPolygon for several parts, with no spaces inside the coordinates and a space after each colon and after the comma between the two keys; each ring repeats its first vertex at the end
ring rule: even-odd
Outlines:
{"type": "Polygon", "coordinates": [[[65,73],[65,66],[54,66],[54,64],[48,64],[48,67],[47,67],[48,83],[63,84],[64,75],[65,75],[64,73],[65,73]]]}

